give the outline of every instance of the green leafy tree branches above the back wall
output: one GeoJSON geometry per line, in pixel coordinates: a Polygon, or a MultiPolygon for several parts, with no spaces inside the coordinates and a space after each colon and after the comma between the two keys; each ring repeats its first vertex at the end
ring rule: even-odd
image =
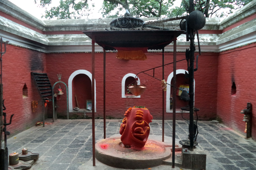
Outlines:
{"type": "MultiPolygon", "coordinates": [[[[88,0],[59,0],[60,4],[51,9],[49,9],[49,5],[52,4],[52,0],[34,1],[39,6],[46,8],[46,15],[42,16],[46,19],[81,18],[90,14],[88,0]]],[[[176,0],[104,0],[102,16],[118,17],[123,15],[127,9],[133,17],[138,18],[174,17],[195,9],[202,11],[205,17],[224,17],[252,0],[182,0],[180,7],[172,8],[174,1],[176,0]],[[192,2],[194,6],[190,5],[192,2]],[[223,12],[223,10],[227,12],[223,12]]],[[[92,7],[94,6],[92,5],[92,7]]]]}

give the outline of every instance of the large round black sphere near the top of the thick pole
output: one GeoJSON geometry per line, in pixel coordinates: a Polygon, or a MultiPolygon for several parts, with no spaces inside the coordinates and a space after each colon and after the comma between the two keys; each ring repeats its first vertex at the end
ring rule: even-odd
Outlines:
{"type": "Polygon", "coordinates": [[[194,30],[200,30],[205,25],[204,14],[200,11],[193,11],[188,16],[188,26],[194,30]]]}

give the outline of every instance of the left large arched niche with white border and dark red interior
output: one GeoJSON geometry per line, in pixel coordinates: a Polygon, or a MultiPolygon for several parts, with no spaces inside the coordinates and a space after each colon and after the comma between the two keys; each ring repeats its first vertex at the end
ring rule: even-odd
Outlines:
{"type": "MultiPolygon", "coordinates": [[[[96,81],[94,79],[94,103],[96,112],[96,81]]],[[[86,100],[92,99],[92,73],[87,70],[76,70],[68,78],[68,107],[69,112],[92,112],[86,110],[86,100]],[[91,88],[85,89],[91,84],[91,88]],[[83,88],[84,86],[84,88],[83,88]],[[78,98],[78,103],[81,109],[79,111],[74,111],[73,108],[76,107],[75,93],[78,98]],[[84,93],[84,95],[82,95],[84,93]],[[88,98],[88,99],[87,99],[88,98]],[[80,99],[80,102],[79,102],[80,99]]]]}

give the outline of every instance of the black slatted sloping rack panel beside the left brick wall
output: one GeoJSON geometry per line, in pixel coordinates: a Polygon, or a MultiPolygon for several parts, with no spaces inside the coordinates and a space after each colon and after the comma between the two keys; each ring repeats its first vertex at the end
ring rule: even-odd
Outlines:
{"type": "Polygon", "coordinates": [[[52,101],[52,85],[46,73],[31,72],[43,101],[52,101]]]}

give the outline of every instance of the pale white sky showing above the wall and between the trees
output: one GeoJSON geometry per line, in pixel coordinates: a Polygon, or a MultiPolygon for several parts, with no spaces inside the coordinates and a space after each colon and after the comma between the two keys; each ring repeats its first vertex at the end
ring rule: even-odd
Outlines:
{"type": "MultiPolygon", "coordinates": [[[[9,0],[13,4],[17,5],[21,9],[27,11],[31,15],[35,16],[38,19],[45,19],[41,18],[42,15],[45,15],[44,8],[40,8],[35,4],[34,0],[9,0]]],[[[52,7],[58,6],[60,0],[52,0],[52,7]]],[[[101,11],[100,8],[102,6],[103,0],[89,0],[88,3],[91,4],[94,2],[95,7],[92,9],[92,14],[89,15],[88,18],[101,18],[101,11]]],[[[176,0],[174,6],[180,6],[181,0],[176,0]]]]}

